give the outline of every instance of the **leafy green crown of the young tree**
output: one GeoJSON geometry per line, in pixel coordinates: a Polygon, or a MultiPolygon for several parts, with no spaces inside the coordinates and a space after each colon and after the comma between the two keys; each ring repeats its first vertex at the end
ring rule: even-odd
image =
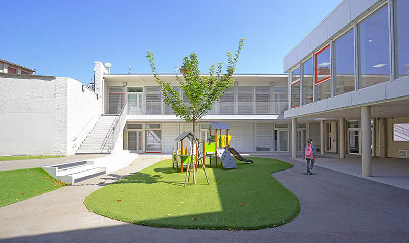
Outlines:
{"type": "Polygon", "coordinates": [[[209,110],[213,109],[213,103],[218,101],[224,92],[232,85],[234,80],[232,75],[239,58],[244,38],[239,41],[237,52],[232,57],[230,52],[227,53],[228,65],[226,72],[222,73],[223,63],[218,63],[217,69],[214,64],[209,69],[209,75],[200,75],[198,60],[195,53],[191,53],[183,59],[181,69],[183,78],[176,75],[176,80],[180,84],[183,96],[189,104],[185,105],[183,96],[175,90],[170,83],[160,79],[153,63],[153,54],[148,51],[146,57],[152,68],[153,76],[156,82],[161,86],[162,97],[166,105],[170,106],[175,115],[184,119],[186,122],[193,123],[193,136],[195,135],[195,123],[200,120],[209,110]]]}

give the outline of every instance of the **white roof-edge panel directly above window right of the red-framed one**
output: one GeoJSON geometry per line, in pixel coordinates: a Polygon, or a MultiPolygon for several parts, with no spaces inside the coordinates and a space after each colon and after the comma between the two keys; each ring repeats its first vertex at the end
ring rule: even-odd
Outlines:
{"type": "Polygon", "coordinates": [[[327,18],[327,34],[334,35],[351,21],[349,0],[340,4],[338,8],[327,18]]]}

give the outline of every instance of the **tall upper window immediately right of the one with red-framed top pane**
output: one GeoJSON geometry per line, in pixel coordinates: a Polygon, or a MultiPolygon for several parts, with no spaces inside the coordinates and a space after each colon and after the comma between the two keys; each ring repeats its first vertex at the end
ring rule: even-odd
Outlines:
{"type": "Polygon", "coordinates": [[[333,42],[335,95],[355,90],[353,29],[333,42]]]}

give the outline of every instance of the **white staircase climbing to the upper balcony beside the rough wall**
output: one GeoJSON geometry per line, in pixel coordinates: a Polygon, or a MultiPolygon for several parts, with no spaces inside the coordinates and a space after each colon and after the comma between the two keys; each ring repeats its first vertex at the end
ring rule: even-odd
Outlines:
{"type": "Polygon", "coordinates": [[[113,144],[108,132],[117,117],[118,115],[101,115],[76,154],[108,154],[113,144]]]}

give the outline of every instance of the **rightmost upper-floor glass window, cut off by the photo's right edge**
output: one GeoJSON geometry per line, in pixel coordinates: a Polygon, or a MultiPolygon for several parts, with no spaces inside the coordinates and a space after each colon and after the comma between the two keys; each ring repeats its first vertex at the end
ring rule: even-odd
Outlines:
{"type": "Polygon", "coordinates": [[[409,75],[409,1],[395,3],[395,55],[397,78],[409,75]]]}

